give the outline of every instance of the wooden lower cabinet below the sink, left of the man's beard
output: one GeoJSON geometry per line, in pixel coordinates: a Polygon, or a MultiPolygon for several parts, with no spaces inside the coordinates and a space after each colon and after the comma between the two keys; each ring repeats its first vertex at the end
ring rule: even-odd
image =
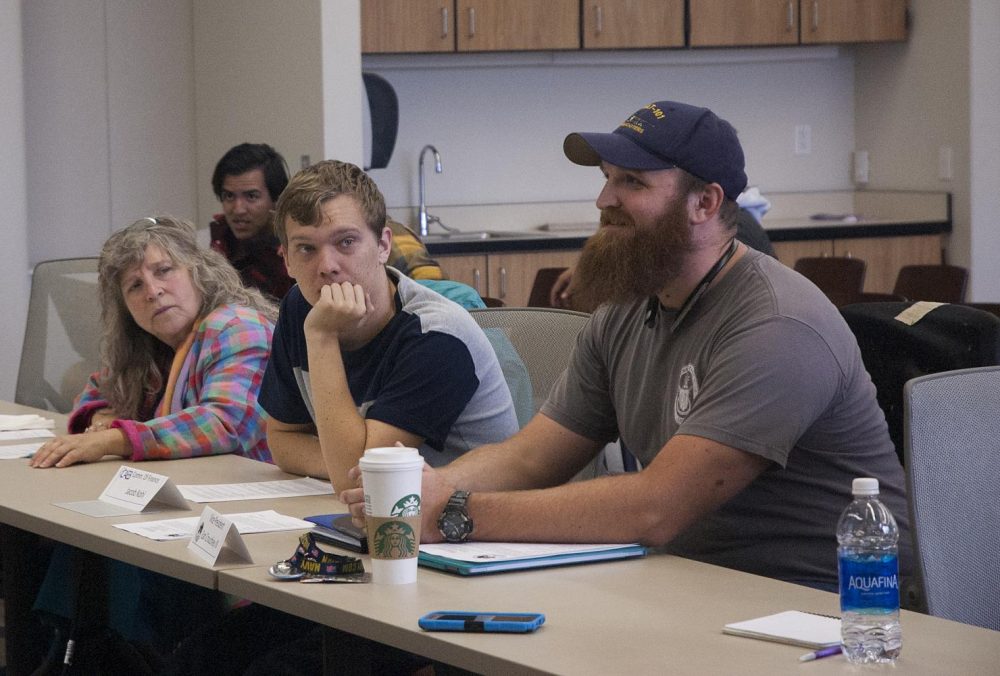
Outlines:
{"type": "Polygon", "coordinates": [[[468,284],[480,296],[502,300],[508,307],[528,303],[540,268],[570,267],[579,257],[579,250],[434,256],[449,279],[468,284]]]}

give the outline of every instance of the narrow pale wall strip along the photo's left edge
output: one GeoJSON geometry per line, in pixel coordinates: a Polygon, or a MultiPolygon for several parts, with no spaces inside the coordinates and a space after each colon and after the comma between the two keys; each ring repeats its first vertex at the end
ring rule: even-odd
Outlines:
{"type": "Polygon", "coordinates": [[[0,399],[14,399],[28,298],[28,222],[24,148],[24,77],[21,2],[0,1],[0,194],[4,245],[0,247],[0,399]]]}

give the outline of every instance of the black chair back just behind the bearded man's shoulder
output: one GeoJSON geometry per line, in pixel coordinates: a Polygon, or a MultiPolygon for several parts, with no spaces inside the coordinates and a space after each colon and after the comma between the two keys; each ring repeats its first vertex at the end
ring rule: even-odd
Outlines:
{"type": "Polygon", "coordinates": [[[1000,364],[1000,318],[965,305],[942,305],[912,326],[896,316],[912,303],[858,303],[840,308],[903,459],[903,386],[929,373],[1000,364]]]}

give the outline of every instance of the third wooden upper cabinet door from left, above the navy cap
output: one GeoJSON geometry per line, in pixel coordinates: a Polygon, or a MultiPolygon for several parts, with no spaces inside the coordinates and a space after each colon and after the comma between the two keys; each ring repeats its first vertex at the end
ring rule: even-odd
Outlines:
{"type": "Polygon", "coordinates": [[[684,46],[684,0],[583,0],[584,49],[684,46]]]}

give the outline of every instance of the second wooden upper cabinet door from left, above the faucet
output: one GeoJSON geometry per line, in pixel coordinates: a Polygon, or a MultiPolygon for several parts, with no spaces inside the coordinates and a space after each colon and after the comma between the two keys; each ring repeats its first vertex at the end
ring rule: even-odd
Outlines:
{"type": "Polygon", "coordinates": [[[456,0],[460,52],[580,48],[579,0],[456,0]]]}

